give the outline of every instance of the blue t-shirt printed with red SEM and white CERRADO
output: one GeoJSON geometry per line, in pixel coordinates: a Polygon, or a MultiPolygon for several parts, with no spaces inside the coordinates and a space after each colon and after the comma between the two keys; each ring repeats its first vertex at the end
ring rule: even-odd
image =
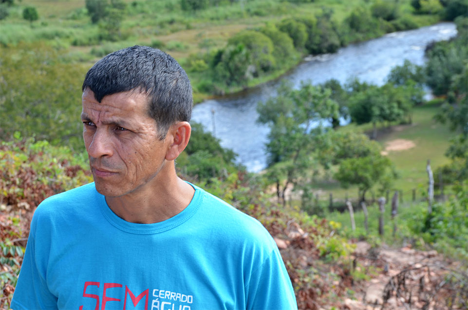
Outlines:
{"type": "Polygon", "coordinates": [[[13,309],[297,309],[281,255],[256,219],[194,186],[160,223],[118,217],[94,183],[34,213],[13,309]]]}

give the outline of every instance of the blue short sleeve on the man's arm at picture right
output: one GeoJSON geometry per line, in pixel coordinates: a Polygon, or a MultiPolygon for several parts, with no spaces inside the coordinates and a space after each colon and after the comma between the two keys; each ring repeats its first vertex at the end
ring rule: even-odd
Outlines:
{"type": "Polygon", "coordinates": [[[248,310],[298,309],[291,280],[278,249],[274,249],[253,272],[247,286],[248,310]]]}

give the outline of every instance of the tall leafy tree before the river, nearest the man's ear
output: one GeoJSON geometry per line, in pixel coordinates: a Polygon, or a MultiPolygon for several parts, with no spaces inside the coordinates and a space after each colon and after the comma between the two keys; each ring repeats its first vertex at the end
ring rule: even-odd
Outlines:
{"type": "Polygon", "coordinates": [[[285,191],[308,182],[314,165],[315,141],[324,133],[321,123],[338,113],[331,91],[302,83],[298,90],[282,83],[278,96],[260,102],[258,121],[270,127],[268,143],[269,177],[276,182],[278,198],[285,203],[285,191]],[[284,183],[282,181],[284,180],[284,183]]]}

